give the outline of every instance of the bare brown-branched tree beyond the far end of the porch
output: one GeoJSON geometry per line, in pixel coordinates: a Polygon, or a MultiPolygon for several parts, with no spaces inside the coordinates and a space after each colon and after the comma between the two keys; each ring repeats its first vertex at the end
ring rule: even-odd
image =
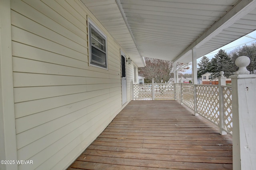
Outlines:
{"type": "MultiPolygon", "coordinates": [[[[139,68],[139,73],[145,77],[145,83],[151,83],[152,78],[156,83],[169,82],[170,78],[174,77],[174,69],[172,61],[152,59],[145,57],[146,66],[139,68]]],[[[184,66],[183,63],[178,63],[176,68],[184,66]]],[[[186,69],[186,68],[184,68],[186,69]]]]}

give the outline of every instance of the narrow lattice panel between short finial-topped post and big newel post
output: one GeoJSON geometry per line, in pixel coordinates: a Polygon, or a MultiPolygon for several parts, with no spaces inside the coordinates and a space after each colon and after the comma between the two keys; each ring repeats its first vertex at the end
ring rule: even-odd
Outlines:
{"type": "Polygon", "coordinates": [[[233,118],[232,118],[232,94],[231,88],[223,88],[224,97],[224,117],[225,117],[225,128],[232,133],[233,129],[233,118]]]}

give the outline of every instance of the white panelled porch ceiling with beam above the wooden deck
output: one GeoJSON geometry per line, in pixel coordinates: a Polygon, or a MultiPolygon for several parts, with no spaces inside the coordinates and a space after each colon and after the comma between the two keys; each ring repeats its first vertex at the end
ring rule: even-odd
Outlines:
{"type": "Polygon", "coordinates": [[[256,29],[256,0],[81,0],[124,48],[188,63],[256,29]]]}

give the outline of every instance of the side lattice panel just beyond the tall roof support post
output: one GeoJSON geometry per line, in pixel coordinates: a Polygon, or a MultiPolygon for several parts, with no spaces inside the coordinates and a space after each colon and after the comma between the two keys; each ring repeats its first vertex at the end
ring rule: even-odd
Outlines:
{"type": "Polygon", "coordinates": [[[182,103],[194,109],[194,84],[182,83],[182,103]]]}

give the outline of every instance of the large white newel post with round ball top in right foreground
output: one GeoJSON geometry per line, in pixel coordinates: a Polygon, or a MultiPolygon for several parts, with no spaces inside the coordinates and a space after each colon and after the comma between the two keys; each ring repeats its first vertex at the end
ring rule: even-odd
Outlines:
{"type": "Polygon", "coordinates": [[[256,74],[246,66],[250,59],[236,59],[239,67],[232,78],[233,170],[253,170],[256,167],[256,74]]]}

